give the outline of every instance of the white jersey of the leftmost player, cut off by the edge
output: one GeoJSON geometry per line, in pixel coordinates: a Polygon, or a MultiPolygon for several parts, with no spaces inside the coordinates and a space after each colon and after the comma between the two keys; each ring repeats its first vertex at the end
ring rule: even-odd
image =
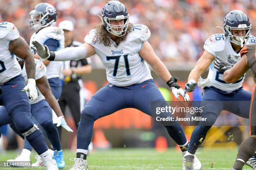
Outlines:
{"type": "Polygon", "coordinates": [[[8,82],[21,73],[18,61],[9,51],[10,42],[18,37],[20,34],[13,23],[0,23],[0,83],[8,82]]]}

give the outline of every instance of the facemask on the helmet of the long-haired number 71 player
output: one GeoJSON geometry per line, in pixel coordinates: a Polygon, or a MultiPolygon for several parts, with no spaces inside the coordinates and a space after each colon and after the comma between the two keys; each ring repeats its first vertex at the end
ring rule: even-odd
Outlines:
{"type": "Polygon", "coordinates": [[[129,14],[127,16],[118,15],[116,18],[108,18],[108,17],[102,17],[102,22],[105,25],[105,28],[110,32],[111,34],[122,37],[125,35],[128,25],[129,25],[129,14]],[[111,20],[124,20],[124,25],[112,25],[110,24],[111,20]],[[118,31],[120,29],[120,31],[118,31]]]}

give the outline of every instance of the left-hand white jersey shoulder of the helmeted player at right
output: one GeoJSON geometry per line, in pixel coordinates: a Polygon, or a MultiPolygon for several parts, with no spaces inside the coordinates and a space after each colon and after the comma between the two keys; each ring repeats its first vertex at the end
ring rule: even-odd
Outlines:
{"type": "Polygon", "coordinates": [[[223,51],[225,48],[225,35],[224,34],[213,34],[206,41],[204,45],[205,50],[208,52],[223,51]]]}

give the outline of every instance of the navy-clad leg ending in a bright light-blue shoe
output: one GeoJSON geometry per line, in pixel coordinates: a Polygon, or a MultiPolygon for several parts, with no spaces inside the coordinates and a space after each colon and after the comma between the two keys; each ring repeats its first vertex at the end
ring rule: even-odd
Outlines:
{"type": "Polygon", "coordinates": [[[56,160],[58,168],[62,169],[65,167],[63,153],[61,150],[61,143],[59,133],[52,122],[52,112],[46,100],[41,100],[31,105],[31,113],[38,123],[44,128],[47,138],[50,140],[51,145],[54,149],[54,159],[56,160]]]}

